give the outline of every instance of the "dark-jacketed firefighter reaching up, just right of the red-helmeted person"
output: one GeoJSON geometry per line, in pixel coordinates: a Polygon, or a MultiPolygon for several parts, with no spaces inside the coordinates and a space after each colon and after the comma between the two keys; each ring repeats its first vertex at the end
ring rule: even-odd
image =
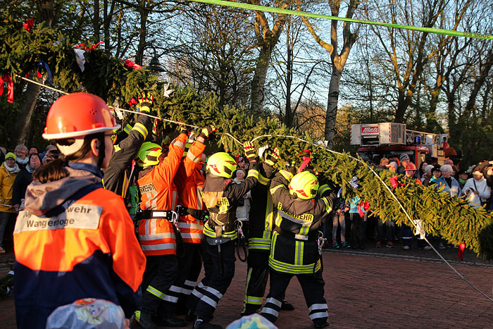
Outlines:
{"type": "MultiPolygon", "coordinates": [[[[149,114],[153,104],[151,94],[139,97],[140,113],[149,114]]],[[[108,168],[104,169],[103,184],[106,190],[115,192],[126,199],[128,187],[134,173],[134,158],[152,128],[149,116],[139,115],[133,127],[127,125],[115,139],[113,154],[108,168]],[[125,136],[122,138],[122,136],[125,136]],[[120,140],[118,140],[120,139],[120,140]]]]}

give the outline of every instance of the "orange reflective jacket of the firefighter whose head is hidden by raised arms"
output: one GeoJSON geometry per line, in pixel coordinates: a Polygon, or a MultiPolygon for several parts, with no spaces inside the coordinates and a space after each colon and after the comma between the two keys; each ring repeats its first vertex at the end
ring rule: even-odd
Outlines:
{"type": "MultiPolygon", "coordinates": [[[[204,188],[206,178],[196,168],[206,145],[195,141],[187,152],[187,156],[180,163],[175,175],[175,185],[178,188],[178,204],[190,209],[206,210],[202,204],[200,192],[204,188]]],[[[201,243],[204,223],[192,215],[180,216],[178,228],[183,242],[201,243]]]]}

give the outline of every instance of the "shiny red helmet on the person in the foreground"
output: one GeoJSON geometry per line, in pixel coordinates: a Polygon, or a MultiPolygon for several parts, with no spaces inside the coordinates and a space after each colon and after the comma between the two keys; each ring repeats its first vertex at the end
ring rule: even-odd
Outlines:
{"type": "Polygon", "coordinates": [[[120,128],[105,101],[93,94],[75,92],[57,99],[48,112],[44,139],[83,137],[120,128]]]}

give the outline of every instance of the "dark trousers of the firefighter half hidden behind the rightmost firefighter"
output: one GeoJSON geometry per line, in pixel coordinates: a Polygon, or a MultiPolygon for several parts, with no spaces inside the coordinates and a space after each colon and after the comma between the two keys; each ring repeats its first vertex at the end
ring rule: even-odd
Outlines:
{"type": "Polygon", "coordinates": [[[251,249],[248,254],[248,270],[246,272],[244,315],[254,314],[261,308],[268,278],[269,253],[251,249]]]}

